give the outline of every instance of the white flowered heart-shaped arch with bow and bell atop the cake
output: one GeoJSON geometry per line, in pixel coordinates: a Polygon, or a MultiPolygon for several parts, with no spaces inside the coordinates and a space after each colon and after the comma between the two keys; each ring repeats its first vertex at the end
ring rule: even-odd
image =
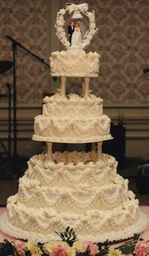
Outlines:
{"type": "Polygon", "coordinates": [[[90,44],[90,41],[94,34],[97,32],[96,24],[95,24],[95,11],[88,11],[88,4],[73,4],[73,3],[66,3],[66,9],[60,9],[57,12],[56,17],[56,35],[59,37],[59,40],[61,43],[63,43],[64,46],[69,47],[71,45],[71,42],[68,41],[66,37],[66,31],[64,29],[64,15],[66,14],[66,11],[70,13],[73,13],[73,19],[83,18],[81,13],[85,15],[89,20],[89,26],[86,30],[85,34],[81,38],[80,46],[81,48],[85,48],[88,44],[90,44]]]}

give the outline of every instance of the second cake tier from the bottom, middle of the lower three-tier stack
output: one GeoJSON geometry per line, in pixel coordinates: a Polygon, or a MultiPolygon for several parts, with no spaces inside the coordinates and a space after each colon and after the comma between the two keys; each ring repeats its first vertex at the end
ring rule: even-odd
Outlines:
{"type": "MultiPolygon", "coordinates": [[[[45,181],[46,182],[46,181],[45,181]]],[[[86,210],[106,211],[122,208],[131,198],[133,192],[128,192],[127,181],[120,177],[115,183],[90,186],[88,183],[74,183],[72,187],[42,185],[35,180],[20,180],[19,191],[13,196],[13,201],[33,208],[53,208],[56,212],[85,213],[86,210]],[[116,183],[118,182],[118,183],[116,183]]],[[[23,207],[23,206],[22,206],[23,207]]],[[[48,210],[48,209],[47,209],[48,210]]]]}

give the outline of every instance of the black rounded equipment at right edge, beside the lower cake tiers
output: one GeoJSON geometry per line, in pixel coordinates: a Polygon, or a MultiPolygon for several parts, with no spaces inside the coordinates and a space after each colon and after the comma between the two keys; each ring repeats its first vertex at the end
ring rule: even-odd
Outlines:
{"type": "Polygon", "coordinates": [[[141,165],[136,176],[136,187],[140,194],[149,194],[149,164],[141,165]]]}

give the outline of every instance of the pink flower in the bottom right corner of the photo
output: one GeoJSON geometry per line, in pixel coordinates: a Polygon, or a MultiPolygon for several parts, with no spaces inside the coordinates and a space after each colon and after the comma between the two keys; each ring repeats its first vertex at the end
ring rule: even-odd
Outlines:
{"type": "Polygon", "coordinates": [[[134,247],[134,253],[136,256],[146,256],[149,253],[148,243],[145,241],[138,241],[134,247]]]}

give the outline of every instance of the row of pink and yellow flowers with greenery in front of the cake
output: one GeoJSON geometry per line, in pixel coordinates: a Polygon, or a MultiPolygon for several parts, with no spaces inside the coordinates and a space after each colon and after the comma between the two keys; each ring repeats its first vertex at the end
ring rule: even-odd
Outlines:
{"type": "Polygon", "coordinates": [[[66,231],[56,234],[62,241],[51,241],[49,243],[37,243],[28,241],[23,243],[20,240],[4,240],[0,243],[1,256],[119,256],[122,253],[132,253],[136,256],[149,255],[148,241],[140,238],[139,234],[134,234],[133,238],[126,243],[110,248],[109,242],[93,243],[87,241],[81,243],[76,239],[76,234],[70,227],[66,231]]]}

